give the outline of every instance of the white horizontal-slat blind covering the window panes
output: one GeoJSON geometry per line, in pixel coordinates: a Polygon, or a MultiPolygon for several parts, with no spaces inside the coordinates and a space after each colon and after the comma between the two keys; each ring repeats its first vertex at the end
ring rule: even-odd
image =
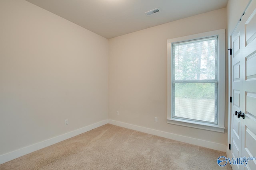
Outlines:
{"type": "Polygon", "coordinates": [[[218,36],[172,43],[172,117],[218,124],[218,36]]]}

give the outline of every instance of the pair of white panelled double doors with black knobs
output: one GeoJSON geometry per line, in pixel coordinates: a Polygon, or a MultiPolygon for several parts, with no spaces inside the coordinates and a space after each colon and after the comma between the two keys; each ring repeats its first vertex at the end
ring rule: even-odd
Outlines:
{"type": "MultiPolygon", "coordinates": [[[[232,35],[232,45],[231,155],[256,157],[256,0],[250,2],[232,35]]],[[[232,168],[256,170],[256,160],[232,168]]]]}

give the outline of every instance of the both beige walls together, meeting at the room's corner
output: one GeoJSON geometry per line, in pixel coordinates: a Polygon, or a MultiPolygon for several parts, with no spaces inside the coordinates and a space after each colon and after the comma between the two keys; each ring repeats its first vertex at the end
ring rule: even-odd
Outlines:
{"type": "Polygon", "coordinates": [[[0,155],[108,117],[227,144],[166,121],[167,39],[226,28],[226,8],[109,41],[25,0],[1,0],[0,23],[0,155]]]}

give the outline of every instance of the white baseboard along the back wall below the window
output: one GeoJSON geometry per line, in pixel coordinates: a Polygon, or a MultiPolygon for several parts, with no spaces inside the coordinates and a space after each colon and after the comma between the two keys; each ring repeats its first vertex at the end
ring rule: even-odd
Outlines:
{"type": "Polygon", "coordinates": [[[120,122],[120,121],[115,121],[115,120],[111,120],[111,119],[108,119],[108,123],[110,123],[112,125],[120,126],[120,127],[125,127],[125,128],[128,128],[128,129],[148,133],[148,134],[151,134],[151,135],[156,135],[156,136],[172,139],[172,140],[175,140],[175,141],[180,141],[180,142],[189,143],[189,144],[192,144],[192,145],[197,145],[197,146],[200,146],[200,147],[206,147],[206,148],[226,152],[226,145],[223,145],[223,144],[220,144],[220,143],[214,143],[214,142],[210,142],[210,141],[204,141],[202,139],[196,139],[196,138],[192,138],[192,137],[176,135],[176,134],[173,134],[173,133],[158,131],[158,130],[155,130],[155,129],[150,129],[150,128],[147,128],[147,127],[132,125],[132,124],[128,124],[128,123],[124,123],[124,122],[120,122]]]}

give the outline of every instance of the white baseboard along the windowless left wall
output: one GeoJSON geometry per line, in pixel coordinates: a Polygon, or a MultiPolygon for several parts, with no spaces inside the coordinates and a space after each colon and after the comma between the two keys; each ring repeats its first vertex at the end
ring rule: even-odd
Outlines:
{"type": "Polygon", "coordinates": [[[55,143],[64,141],[64,140],[69,139],[71,137],[74,137],[76,135],[80,135],[82,133],[85,133],[87,131],[90,131],[92,129],[95,129],[97,127],[105,125],[107,123],[108,123],[108,120],[106,119],[104,121],[100,121],[100,122],[94,123],[92,125],[88,125],[86,127],[76,129],[74,131],[65,133],[65,134],[57,136],[57,137],[53,137],[51,139],[47,139],[45,141],[30,145],[28,147],[24,147],[24,148],[14,150],[14,151],[6,153],[6,154],[2,154],[2,155],[0,155],[0,164],[3,164],[3,163],[8,162],[10,160],[16,159],[16,158],[18,158],[20,156],[23,156],[25,154],[29,154],[29,153],[34,152],[36,150],[48,147],[48,146],[53,145],[55,143]]]}

